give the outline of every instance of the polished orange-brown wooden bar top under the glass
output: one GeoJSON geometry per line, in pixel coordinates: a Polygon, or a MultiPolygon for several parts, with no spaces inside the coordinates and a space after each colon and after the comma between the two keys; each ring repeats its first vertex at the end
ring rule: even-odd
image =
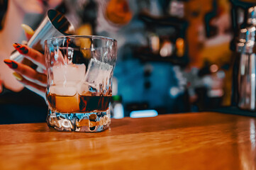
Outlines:
{"type": "Polygon", "coordinates": [[[256,169],[256,118],[180,113],[111,121],[97,133],[0,125],[0,169],[256,169]]]}

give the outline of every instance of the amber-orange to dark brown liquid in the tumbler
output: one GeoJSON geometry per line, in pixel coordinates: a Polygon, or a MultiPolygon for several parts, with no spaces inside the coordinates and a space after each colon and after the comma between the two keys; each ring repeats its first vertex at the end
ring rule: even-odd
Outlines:
{"type": "Polygon", "coordinates": [[[60,113],[89,113],[108,110],[111,96],[57,96],[48,94],[50,108],[60,113]]]}

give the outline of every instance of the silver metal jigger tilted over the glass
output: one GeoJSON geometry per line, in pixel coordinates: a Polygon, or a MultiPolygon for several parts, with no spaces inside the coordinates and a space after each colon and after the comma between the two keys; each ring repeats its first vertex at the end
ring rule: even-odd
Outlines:
{"type": "MultiPolygon", "coordinates": [[[[28,41],[28,47],[43,52],[45,40],[48,38],[72,34],[74,34],[74,27],[67,21],[67,18],[62,13],[50,9],[47,16],[40,23],[40,26],[35,30],[34,35],[28,41]]],[[[11,54],[10,59],[21,62],[23,55],[16,51],[11,54]]]]}

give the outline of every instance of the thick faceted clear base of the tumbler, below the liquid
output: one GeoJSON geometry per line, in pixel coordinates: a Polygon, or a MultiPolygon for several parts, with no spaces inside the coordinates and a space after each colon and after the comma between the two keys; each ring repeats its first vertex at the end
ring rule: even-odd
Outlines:
{"type": "Polygon", "coordinates": [[[49,109],[46,122],[58,131],[101,132],[109,127],[111,119],[109,109],[96,113],[57,113],[49,109]]]}

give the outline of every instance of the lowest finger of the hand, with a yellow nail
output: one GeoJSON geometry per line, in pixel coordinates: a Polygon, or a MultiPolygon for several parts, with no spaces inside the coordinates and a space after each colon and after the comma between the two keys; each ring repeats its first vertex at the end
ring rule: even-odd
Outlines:
{"type": "Polygon", "coordinates": [[[13,76],[24,86],[26,86],[26,88],[30,89],[30,91],[35,92],[36,94],[42,96],[43,98],[45,98],[45,87],[44,86],[40,86],[38,84],[35,84],[31,81],[28,81],[27,79],[24,79],[21,74],[18,74],[17,72],[13,72],[13,76]]]}

